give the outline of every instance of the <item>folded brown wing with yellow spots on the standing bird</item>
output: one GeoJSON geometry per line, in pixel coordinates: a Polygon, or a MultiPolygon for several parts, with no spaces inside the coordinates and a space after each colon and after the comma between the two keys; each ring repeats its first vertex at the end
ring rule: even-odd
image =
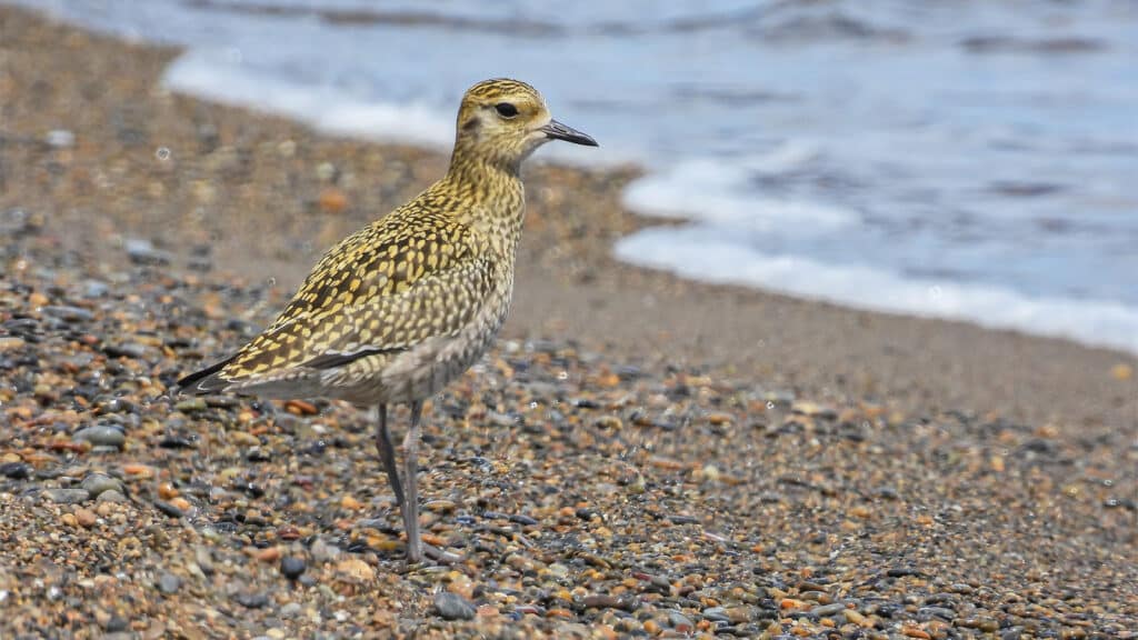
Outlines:
{"type": "Polygon", "coordinates": [[[494,287],[498,265],[479,249],[450,216],[381,219],[329,251],[280,317],[233,358],[179,384],[217,391],[456,335],[494,287]]]}

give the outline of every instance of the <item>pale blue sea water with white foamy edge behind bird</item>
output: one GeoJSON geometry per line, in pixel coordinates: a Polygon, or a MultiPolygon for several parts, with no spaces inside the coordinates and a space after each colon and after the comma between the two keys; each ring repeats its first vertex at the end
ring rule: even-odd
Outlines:
{"type": "Polygon", "coordinates": [[[1132,0],[22,3],[339,134],[446,148],[465,87],[528,80],[602,143],[542,155],[690,221],[622,260],[1138,352],[1132,0]]]}

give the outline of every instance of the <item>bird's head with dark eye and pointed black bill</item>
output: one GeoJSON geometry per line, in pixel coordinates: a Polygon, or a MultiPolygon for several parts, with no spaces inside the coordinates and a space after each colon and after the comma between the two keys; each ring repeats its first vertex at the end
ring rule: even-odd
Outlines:
{"type": "Polygon", "coordinates": [[[517,80],[485,80],[459,108],[455,155],[477,156],[513,170],[550,140],[595,147],[588,136],[553,120],[536,89],[517,80]]]}

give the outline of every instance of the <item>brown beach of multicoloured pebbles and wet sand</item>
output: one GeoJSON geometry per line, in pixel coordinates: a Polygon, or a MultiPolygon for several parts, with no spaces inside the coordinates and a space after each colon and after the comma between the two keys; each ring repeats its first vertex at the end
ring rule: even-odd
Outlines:
{"type": "Polygon", "coordinates": [[[368,416],[170,389],[447,158],[176,54],[0,7],[0,639],[1138,638],[1133,356],[621,265],[636,167],[528,172],[406,567],[368,416]]]}

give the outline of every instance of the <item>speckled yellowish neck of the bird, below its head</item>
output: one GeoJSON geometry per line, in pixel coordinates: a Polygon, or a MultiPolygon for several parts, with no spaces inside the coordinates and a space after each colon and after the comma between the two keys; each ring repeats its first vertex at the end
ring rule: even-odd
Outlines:
{"type": "Polygon", "coordinates": [[[457,215],[480,231],[505,260],[513,261],[526,213],[520,162],[500,162],[455,149],[443,183],[461,199],[457,215]]]}

